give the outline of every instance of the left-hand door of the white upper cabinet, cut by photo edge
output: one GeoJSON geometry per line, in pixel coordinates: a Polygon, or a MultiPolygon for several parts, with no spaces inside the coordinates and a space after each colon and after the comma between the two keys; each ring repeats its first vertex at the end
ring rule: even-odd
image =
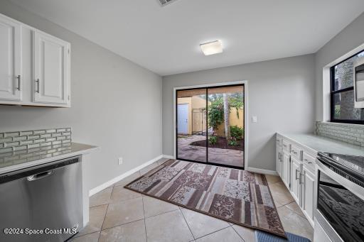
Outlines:
{"type": "Polygon", "coordinates": [[[0,99],[21,100],[21,24],[0,15],[0,99]]]}

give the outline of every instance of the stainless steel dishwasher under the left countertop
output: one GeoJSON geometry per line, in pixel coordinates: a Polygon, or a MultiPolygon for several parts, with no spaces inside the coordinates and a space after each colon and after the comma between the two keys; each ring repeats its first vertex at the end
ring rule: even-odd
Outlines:
{"type": "Polygon", "coordinates": [[[83,219],[80,161],[68,158],[0,175],[0,241],[53,242],[73,236],[83,219]],[[13,230],[18,234],[4,229],[18,229],[13,230]]]}

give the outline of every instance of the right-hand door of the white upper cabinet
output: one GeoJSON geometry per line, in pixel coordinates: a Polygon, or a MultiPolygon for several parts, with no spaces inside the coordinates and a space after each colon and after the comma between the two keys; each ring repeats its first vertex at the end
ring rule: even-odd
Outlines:
{"type": "Polygon", "coordinates": [[[44,104],[69,104],[69,44],[35,31],[33,45],[33,101],[44,104]]]}

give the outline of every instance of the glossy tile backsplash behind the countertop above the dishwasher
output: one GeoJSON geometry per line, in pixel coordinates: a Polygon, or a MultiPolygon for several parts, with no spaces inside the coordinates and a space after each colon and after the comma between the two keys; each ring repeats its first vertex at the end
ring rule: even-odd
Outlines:
{"type": "Polygon", "coordinates": [[[71,128],[0,133],[0,153],[70,143],[71,133],[71,128]]]}

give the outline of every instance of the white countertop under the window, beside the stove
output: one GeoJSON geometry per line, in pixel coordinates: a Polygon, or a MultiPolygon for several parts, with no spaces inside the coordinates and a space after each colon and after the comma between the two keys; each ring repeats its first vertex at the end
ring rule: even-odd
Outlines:
{"type": "Polygon", "coordinates": [[[300,145],[306,146],[314,152],[337,153],[343,155],[364,156],[364,148],[358,145],[350,145],[332,138],[317,136],[312,133],[279,133],[279,135],[289,138],[300,145]]]}

